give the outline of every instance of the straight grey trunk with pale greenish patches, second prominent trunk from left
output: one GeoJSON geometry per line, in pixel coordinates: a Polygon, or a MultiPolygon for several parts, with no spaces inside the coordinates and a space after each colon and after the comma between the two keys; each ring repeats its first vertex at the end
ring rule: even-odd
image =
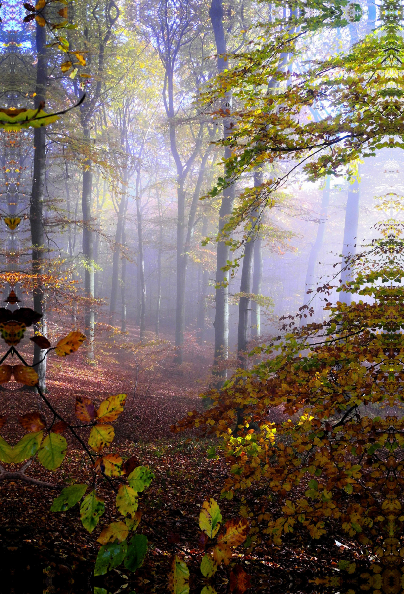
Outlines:
{"type": "MultiPolygon", "coordinates": [[[[84,130],[90,141],[90,129],[84,130]]],[[[87,356],[94,359],[94,233],[93,225],[93,163],[85,159],[82,171],[81,211],[83,218],[82,254],[84,258],[84,331],[88,340],[87,356]]]]}

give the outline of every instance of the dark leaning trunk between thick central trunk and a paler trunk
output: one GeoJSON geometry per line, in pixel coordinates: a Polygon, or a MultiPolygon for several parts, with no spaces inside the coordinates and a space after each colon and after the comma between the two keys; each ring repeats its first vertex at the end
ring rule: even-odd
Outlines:
{"type": "Polygon", "coordinates": [[[243,369],[246,369],[247,367],[245,352],[248,341],[247,331],[250,310],[249,293],[251,293],[254,243],[254,239],[247,241],[244,248],[243,268],[241,269],[240,293],[246,293],[246,295],[241,295],[240,303],[238,305],[237,356],[243,369]]]}

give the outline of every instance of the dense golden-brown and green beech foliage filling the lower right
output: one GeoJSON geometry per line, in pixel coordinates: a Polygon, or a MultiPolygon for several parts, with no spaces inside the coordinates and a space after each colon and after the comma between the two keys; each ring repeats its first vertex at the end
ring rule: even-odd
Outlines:
{"type": "MultiPolygon", "coordinates": [[[[329,320],[255,349],[268,358],[210,391],[211,409],[174,428],[193,425],[222,438],[231,466],[222,497],[240,491],[244,513],[252,489],[253,500],[265,494],[268,504],[277,501],[278,511],[253,520],[251,548],[262,538],[279,546],[301,525],[313,539],[355,539],[364,556],[390,563],[399,555],[404,242],[395,221],[378,230],[381,236],[350,260],[355,279],[339,288],[370,302],[328,302],[329,320]],[[279,406],[288,419],[271,422],[279,406]]],[[[323,287],[325,295],[331,288],[323,287]]]]}

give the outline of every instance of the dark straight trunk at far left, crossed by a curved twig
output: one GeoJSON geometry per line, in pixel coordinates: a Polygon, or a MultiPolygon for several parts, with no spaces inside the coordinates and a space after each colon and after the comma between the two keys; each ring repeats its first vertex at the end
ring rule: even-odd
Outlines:
{"type": "MultiPolygon", "coordinates": [[[[37,52],[37,70],[36,70],[36,96],[34,100],[35,109],[39,108],[40,103],[46,98],[47,84],[47,61],[46,61],[46,28],[40,27],[36,23],[36,52],[37,52]]],[[[34,276],[33,303],[34,310],[42,314],[42,320],[35,324],[35,331],[46,336],[46,317],[44,304],[44,288],[42,283],[38,282],[36,275],[43,274],[44,264],[44,241],[45,234],[43,228],[43,201],[45,188],[46,171],[46,143],[45,128],[34,129],[34,168],[32,191],[30,200],[30,226],[32,242],[32,272],[34,276]]],[[[39,346],[34,345],[33,365],[39,377],[39,387],[46,390],[46,359],[40,362],[44,356],[44,351],[39,346]]]]}

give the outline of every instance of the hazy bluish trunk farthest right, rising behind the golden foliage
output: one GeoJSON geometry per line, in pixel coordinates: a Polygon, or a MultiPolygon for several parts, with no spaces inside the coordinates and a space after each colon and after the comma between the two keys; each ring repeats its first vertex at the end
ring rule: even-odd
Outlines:
{"type": "MultiPolygon", "coordinates": [[[[360,175],[360,166],[358,167],[358,175],[360,175]]],[[[347,265],[346,261],[356,253],[360,198],[360,185],[358,179],[355,179],[354,183],[349,187],[348,198],[346,200],[341,261],[342,285],[352,280],[352,266],[350,264],[347,265]]],[[[339,293],[339,301],[349,305],[352,301],[352,293],[341,291],[339,293]]]]}

